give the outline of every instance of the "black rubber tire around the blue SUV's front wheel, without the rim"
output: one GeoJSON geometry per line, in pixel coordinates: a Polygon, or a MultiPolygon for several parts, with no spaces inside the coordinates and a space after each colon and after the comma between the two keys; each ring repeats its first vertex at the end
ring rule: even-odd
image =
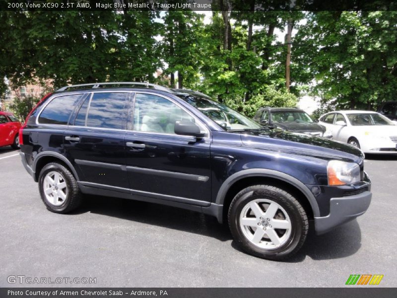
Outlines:
{"type": "MultiPolygon", "coordinates": [[[[260,208],[262,208],[263,211],[267,210],[264,209],[265,205],[260,208]]],[[[272,218],[271,220],[276,220],[276,217],[280,214],[282,215],[283,211],[281,209],[277,209],[275,218],[272,218]]],[[[257,220],[256,216],[254,217],[254,220],[257,220]]],[[[305,242],[309,229],[309,221],[302,205],[288,192],[271,185],[254,185],[240,191],[234,197],[233,201],[230,204],[228,221],[230,231],[233,235],[234,240],[244,251],[251,255],[270,260],[281,260],[290,257],[294,253],[296,253],[305,242]],[[240,226],[240,214],[242,213],[243,208],[245,209],[245,206],[247,204],[258,199],[266,200],[270,203],[275,202],[287,213],[289,217],[291,229],[288,237],[287,230],[283,231],[279,229],[276,230],[275,228],[273,229],[275,232],[277,232],[277,234],[282,234],[283,232],[287,233],[285,234],[283,240],[284,242],[280,242],[279,247],[265,249],[263,247],[255,245],[253,242],[251,242],[251,240],[247,238],[247,236],[243,232],[243,229],[240,226]]],[[[267,223],[267,221],[264,222],[267,223]]],[[[269,223],[271,223],[271,221],[269,223]]],[[[271,227],[270,224],[268,226],[271,227]]],[[[259,227],[265,229],[265,227],[262,225],[260,225],[259,227]]],[[[252,231],[254,232],[254,230],[252,231]]],[[[266,236],[267,234],[265,234],[265,237],[266,236]]],[[[265,244],[266,241],[264,241],[264,239],[265,238],[261,238],[260,245],[262,245],[262,243],[265,244]]],[[[268,239],[270,240],[270,237],[268,239]]]]}

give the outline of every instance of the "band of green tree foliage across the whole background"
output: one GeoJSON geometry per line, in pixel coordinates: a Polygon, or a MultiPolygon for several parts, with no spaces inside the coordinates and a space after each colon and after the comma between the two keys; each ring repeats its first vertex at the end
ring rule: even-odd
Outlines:
{"type": "MultiPolygon", "coordinates": [[[[249,116],[265,105],[294,106],[300,92],[322,98],[316,113],[371,109],[397,98],[397,11],[261,12],[252,4],[263,1],[232,2],[231,21],[213,11],[207,24],[188,10],[0,11],[0,76],[13,87],[33,80],[54,87],[131,80],[169,84],[152,75],[162,68],[166,75],[177,73],[180,86],[249,116]],[[284,90],[286,45],[274,35],[287,21],[297,30],[291,93],[284,90]],[[329,102],[334,106],[327,107],[329,102]]],[[[0,98],[6,89],[0,80],[0,98]]]]}

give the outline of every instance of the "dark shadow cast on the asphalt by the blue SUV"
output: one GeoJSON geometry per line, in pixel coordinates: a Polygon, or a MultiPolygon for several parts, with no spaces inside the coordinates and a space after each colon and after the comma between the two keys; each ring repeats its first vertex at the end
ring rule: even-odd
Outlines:
{"type": "MultiPolygon", "coordinates": [[[[83,206],[71,214],[86,212],[196,233],[220,241],[232,240],[228,226],[219,224],[214,217],[169,206],[119,198],[85,196],[83,206]]],[[[241,251],[235,241],[232,241],[232,246],[241,251]]],[[[361,229],[356,220],[336,227],[324,235],[316,235],[311,228],[303,247],[285,262],[302,262],[306,256],[313,260],[344,258],[356,253],[360,247],[361,229]]]]}

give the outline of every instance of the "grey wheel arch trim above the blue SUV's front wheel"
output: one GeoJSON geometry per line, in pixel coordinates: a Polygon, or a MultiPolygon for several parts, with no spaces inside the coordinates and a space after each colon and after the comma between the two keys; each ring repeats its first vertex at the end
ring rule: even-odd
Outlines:
{"type": "Polygon", "coordinates": [[[237,173],[234,173],[229,178],[227,178],[223,182],[222,186],[219,188],[218,194],[216,196],[215,204],[223,205],[225,198],[226,198],[226,194],[227,194],[228,190],[230,189],[230,187],[234,183],[238,182],[239,180],[241,180],[243,178],[247,178],[247,177],[269,177],[269,178],[275,178],[275,179],[278,179],[278,180],[281,180],[281,181],[291,184],[292,186],[294,186],[298,190],[300,190],[305,195],[305,197],[308,199],[310,206],[312,207],[313,215],[315,217],[320,216],[319,205],[317,204],[317,201],[316,201],[314,195],[312,194],[312,192],[309,190],[309,188],[305,184],[303,184],[301,181],[299,181],[298,179],[296,179],[288,174],[285,174],[283,172],[279,172],[276,170],[270,170],[270,169],[253,168],[253,169],[246,169],[246,170],[242,170],[237,173]]]}

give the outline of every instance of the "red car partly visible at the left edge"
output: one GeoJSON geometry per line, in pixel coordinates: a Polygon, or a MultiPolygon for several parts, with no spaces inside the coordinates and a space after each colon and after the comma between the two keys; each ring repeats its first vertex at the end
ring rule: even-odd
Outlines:
{"type": "Polygon", "coordinates": [[[19,129],[22,124],[14,115],[8,112],[0,112],[0,147],[12,146],[19,149],[19,129]]]}

